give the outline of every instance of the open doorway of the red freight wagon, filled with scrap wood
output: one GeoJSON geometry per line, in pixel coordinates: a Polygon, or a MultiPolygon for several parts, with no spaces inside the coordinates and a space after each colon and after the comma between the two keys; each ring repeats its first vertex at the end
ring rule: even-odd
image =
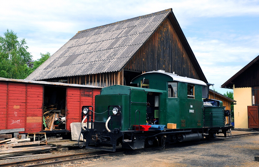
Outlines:
{"type": "Polygon", "coordinates": [[[66,130],[66,88],[44,87],[43,131],[66,130]]]}

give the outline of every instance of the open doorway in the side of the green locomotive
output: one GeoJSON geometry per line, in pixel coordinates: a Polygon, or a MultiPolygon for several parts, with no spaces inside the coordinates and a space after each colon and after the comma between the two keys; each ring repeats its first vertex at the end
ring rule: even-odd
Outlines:
{"type": "Polygon", "coordinates": [[[147,123],[150,125],[159,124],[159,99],[160,93],[147,93],[147,123]]]}

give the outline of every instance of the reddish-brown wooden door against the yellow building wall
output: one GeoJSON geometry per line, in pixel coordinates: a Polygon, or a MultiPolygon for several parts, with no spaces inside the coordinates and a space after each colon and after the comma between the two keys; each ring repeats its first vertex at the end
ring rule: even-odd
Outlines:
{"type": "Polygon", "coordinates": [[[247,106],[248,128],[259,128],[258,106],[247,106]]]}

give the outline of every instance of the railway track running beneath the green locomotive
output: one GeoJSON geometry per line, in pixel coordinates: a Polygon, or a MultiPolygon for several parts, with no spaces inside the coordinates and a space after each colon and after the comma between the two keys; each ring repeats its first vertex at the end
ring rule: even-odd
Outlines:
{"type": "MultiPolygon", "coordinates": [[[[238,137],[246,137],[246,136],[253,136],[253,135],[259,135],[259,133],[249,133],[249,134],[242,134],[242,135],[232,135],[232,137],[224,138],[223,136],[217,136],[218,138],[215,138],[213,140],[222,140],[222,139],[232,139],[232,138],[238,138],[238,137]]],[[[200,142],[210,142],[213,140],[201,140],[201,141],[192,141],[192,142],[185,142],[185,144],[188,143],[200,143],[200,142]]],[[[179,144],[179,143],[177,143],[179,144]]],[[[182,143],[184,144],[184,143],[182,143]]],[[[173,144],[175,145],[175,144],[173,144]]],[[[172,145],[172,147],[173,147],[172,145]]],[[[55,157],[48,157],[48,158],[42,158],[42,159],[34,159],[34,160],[27,160],[27,161],[19,161],[19,162],[11,162],[6,164],[0,164],[0,167],[7,167],[7,166],[28,166],[28,167],[46,167],[51,165],[61,165],[66,164],[70,162],[78,162],[78,161],[86,161],[86,160],[92,160],[92,159],[98,159],[98,158],[104,158],[109,156],[118,156],[123,154],[131,154],[134,152],[145,152],[154,150],[161,147],[156,148],[146,148],[146,149],[138,149],[138,150],[127,150],[122,151],[121,149],[117,149],[116,152],[108,152],[108,151],[97,151],[97,152],[86,152],[86,153],[79,153],[79,154],[71,154],[71,155],[65,155],[65,156],[55,156],[55,157]]]]}

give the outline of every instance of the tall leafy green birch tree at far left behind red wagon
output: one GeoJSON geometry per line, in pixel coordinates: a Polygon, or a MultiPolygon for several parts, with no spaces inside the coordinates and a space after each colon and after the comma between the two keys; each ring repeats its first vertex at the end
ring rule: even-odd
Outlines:
{"type": "Polygon", "coordinates": [[[7,29],[3,37],[0,36],[0,77],[24,79],[28,76],[27,62],[32,60],[32,55],[26,44],[24,38],[19,42],[12,30],[7,29]]]}

